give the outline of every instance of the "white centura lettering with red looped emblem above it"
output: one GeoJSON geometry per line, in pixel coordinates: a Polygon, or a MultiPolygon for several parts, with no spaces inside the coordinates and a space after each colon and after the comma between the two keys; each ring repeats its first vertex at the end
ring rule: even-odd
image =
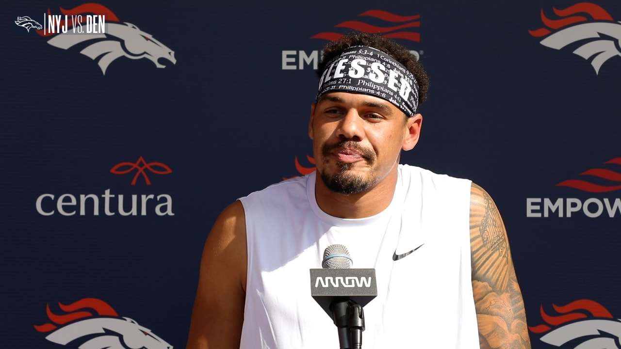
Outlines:
{"type": "MultiPolygon", "coordinates": [[[[151,185],[151,181],[147,176],[146,170],[156,174],[169,174],[173,170],[163,163],[150,162],[147,163],[142,156],[135,163],[122,162],[114,165],[110,170],[114,174],[127,174],[134,170],[137,173],[132,180],[132,186],[135,186],[138,177],[142,174],[147,186],[151,185]]],[[[41,194],[37,197],[35,206],[40,215],[54,215],[57,212],[61,215],[99,215],[101,210],[100,204],[103,206],[104,214],[109,215],[147,215],[148,212],[155,212],[156,215],[175,215],[173,213],[173,197],[169,194],[131,194],[130,203],[127,203],[124,194],[112,194],[111,189],[104,190],[104,194],[60,194],[52,193],[41,194]],[[140,200],[138,201],[138,198],[140,200]],[[115,202],[116,201],[116,202],[115,202]],[[116,204],[116,209],[114,208],[116,204]],[[154,207],[155,205],[155,207],[154,207]],[[127,210],[127,206],[130,209],[127,210]]]]}

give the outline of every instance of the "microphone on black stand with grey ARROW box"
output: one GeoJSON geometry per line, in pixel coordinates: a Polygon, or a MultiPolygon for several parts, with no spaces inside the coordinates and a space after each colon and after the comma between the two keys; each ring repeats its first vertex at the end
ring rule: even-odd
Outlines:
{"type": "Polygon", "coordinates": [[[347,247],[336,244],[325,249],[324,268],[311,269],[311,296],[337,325],[341,349],[361,348],[362,307],[378,295],[375,270],[350,269],[352,264],[347,247]]]}

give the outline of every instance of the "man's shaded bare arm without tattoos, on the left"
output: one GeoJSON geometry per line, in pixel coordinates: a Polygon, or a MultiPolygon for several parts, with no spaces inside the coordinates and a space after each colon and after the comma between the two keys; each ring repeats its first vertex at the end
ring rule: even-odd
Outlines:
{"type": "Polygon", "coordinates": [[[239,348],[247,255],[243,206],[235,201],[215,221],[202,252],[187,349],[239,348]]]}

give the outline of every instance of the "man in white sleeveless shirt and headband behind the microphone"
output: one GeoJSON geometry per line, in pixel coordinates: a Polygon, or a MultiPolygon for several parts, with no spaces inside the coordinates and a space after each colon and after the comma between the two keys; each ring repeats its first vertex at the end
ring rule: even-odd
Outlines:
{"type": "Polygon", "coordinates": [[[329,245],[375,268],[368,348],[530,348],[501,216],[466,179],[399,165],[428,79],[409,51],[347,35],[324,48],[309,136],[317,171],[227,207],[201,261],[188,348],[337,348],[309,291],[329,245]]]}

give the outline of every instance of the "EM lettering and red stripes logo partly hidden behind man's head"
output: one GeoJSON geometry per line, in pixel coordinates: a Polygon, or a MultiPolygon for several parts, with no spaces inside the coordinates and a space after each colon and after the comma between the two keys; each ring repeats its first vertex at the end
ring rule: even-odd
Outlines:
{"type": "MultiPolygon", "coordinates": [[[[343,37],[343,33],[357,32],[381,34],[389,39],[402,39],[408,42],[420,42],[420,15],[399,16],[388,11],[369,10],[358,14],[365,17],[365,22],[361,20],[346,20],[334,26],[336,32],[319,32],[312,35],[311,39],[324,39],[335,41],[343,37]]],[[[419,57],[421,51],[410,50],[412,54],[419,57]]],[[[303,70],[306,66],[317,69],[319,63],[319,50],[307,53],[304,50],[283,50],[283,70],[303,70]]]]}

